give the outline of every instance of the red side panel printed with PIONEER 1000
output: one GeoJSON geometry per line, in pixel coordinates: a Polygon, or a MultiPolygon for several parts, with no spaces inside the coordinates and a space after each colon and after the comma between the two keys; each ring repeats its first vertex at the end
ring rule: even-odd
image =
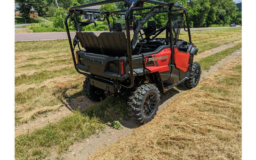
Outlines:
{"type": "Polygon", "coordinates": [[[171,60],[170,48],[163,49],[157,54],[146,55],[144,58],[146,59],[145,68],[148,69],[150,73],[170,71],[168,66],[171,60]]]}

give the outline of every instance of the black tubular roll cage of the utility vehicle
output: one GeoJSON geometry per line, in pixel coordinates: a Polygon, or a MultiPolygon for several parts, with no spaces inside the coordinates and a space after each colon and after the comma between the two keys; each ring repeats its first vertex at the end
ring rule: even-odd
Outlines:
{"type": "MultiPolygon", "coordinates": [[[[183,11],[183,13],[185,14],[187,30],[185,30],[185,24],[184,24],[184,30],[188,32],[189,42],[192,43],[191,35],[190,35],[190,27],[189,27],[189,23],[188,23],[187,9],[183,6],[175,5],[174,3],[159,2],[159,1],[155,1],[155,0],[104,0],[104,1],[100,1],[100,2],[88,3],[88,4],[84,4],[84,5],[71,7],[69,9],[69,13],[66,16],[66,19],[65,19],[64,23],[65,23],[65,27],[66,27],[66,31],[67,31],[67,35],[68,35],[68,40],[69,40],[69,45],[70,45],[72,58],[73,58],[73,62],[74,62],[74,66],[75,66],[76,71],[79,72],[80,74],[86,75],[87,77],[91,77],[90,74],[88,74],[86,72],[81,72],[76,67],[77,63],[76,63],[76,60],[75,60],[75,54],[74,54],[74,48],[73,48],[73,45],[75,47],[76,44],[75,43],[72,44],[71,35],[70,35],[70,32],[69,32],[69,27],[68,27],[68,19],[69,18],[74,20],[75,29],[77,31],[81,31],[80,27],[89,25],[91,23],[95,24],[95,22],[93,20],[87,20],[86,22],[80,22],[77,19],[78,14],[86,14],[87,12],[90,12],[90,13],[95,13],[96,17],[97,17],[97,14],[106,14],[106,19],[107,19],[109,30],[110,31],[115,31],[113,29],[113,27],[110,25],[109,16],[112,16],[113,14],[118,14],[118,15],[124,15],[125,16],[125,27],[126,27],[126,36],[127,36],[127,54],[126,54],[126,56],[128,56],[128,59],[129,59],[130,85],[129,86],[122,85],[122,86],[124,86],[126,88],[132,88],[133,85],[134,85],[133,74],[131,74],[131,73],[133,73],[133,65],[132,65],[132,44],[133,43],[130,39],[130,30],[129,30],[130,22],[129,21],[132,20],[133,15],[148,15],[148,14],[151,14],[151,13],[153,13],[153,14],[155,14],[155,13],[168,13],[168,23],[167,23],[167,25],[163,26],[162,28],[159,28],[158,30],[149,34],[148,36],[141,39],[140,41],[143,41],[144,39],[149,38],[152,35],[155,35],[152,38],[152,39],[154,39],[156,36],[158,36],[160,33],[162,33],[162,31],[166,30],[166,45],[169,45],[169,43],[170,43],[171,53],[174,53],[173,34],[172,34],[172,25],[171,25],[171,15],[172,14],[171,13],[176,12],[176,11],[183,11]],[[91,10],[83,9],[85,7],[96,6],[96,5],[104,5],[104,4],[107,4],[107,3],[114,3],[114,2],[124,2],[124,5],[127,7],[127,9],[123,9],[123,10],[119,10],[119,11],[107,11],[107,12],[91,11],[91,10]],[[155,4],[155,6],[141,7],[141,5],[143,6],[144,2],[155,4]],[[162,10],[152,11],[152,8],[161,8],[162,10]],[[132,14],[133,11],[143,11],[143,10],[146,10],[146,9],[151,9],[151,10],[149,12],[141,12],[141,13],[132,14]],[[71,17],[73,14],[74,14],[74,18],[71,17]]],[[[139,30],[140,29],[141,28],[139,28],[139,30]]],[[[135,31],[136,31],[136,28],[135,28],[135,31]]],[[[135,39],[136,43],[137,43],[137,40],[138,39],[135,39]]],[[[174,56],[174,54],[171,54],[171,56],[174,56]]],[[[174,62],[172,61],[171,63],[174,63],[174,62]]]]}

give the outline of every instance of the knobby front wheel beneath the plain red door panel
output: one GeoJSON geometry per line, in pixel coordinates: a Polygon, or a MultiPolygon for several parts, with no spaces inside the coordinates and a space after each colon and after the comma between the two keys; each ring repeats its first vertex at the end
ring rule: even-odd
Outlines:
{"type": "Polygon", "coordinates": [[[199,63],[193,62],[192,71],[188,80],[185,81],[185,86],[194,88],[197,86],[201,75],[201,66],[199,63]]]}

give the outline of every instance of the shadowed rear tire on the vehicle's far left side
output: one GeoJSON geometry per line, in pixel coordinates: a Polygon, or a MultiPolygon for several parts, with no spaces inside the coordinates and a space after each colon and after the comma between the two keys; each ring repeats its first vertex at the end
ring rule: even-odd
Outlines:
{"type": "Polygon", "coordinates": [[[90,78],[87,77],[83,82],[83,93],[92,101],[101,101],[106,97],[104,90],[91,85],[90,78]]]}

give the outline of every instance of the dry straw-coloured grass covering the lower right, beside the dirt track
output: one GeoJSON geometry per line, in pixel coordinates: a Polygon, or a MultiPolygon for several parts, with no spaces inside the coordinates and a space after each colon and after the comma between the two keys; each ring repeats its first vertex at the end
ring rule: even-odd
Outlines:
{"type": "Polygon", "coordinates": [[[91,159],[241,159],[241,56],[91,159]]]}

